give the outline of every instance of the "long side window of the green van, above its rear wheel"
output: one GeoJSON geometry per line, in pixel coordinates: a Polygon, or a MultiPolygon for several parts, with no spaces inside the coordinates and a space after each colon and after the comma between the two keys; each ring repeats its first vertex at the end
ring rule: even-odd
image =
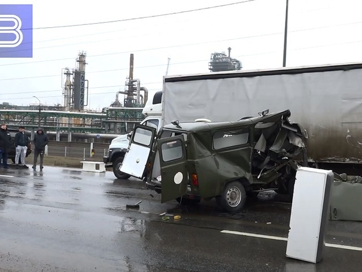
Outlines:
{"type": "Polygon", "coordinates": [[[236,131],[216,132],[212,137],[213,149],[223,149],[247,144],[249,141],[249,129],[239,129],[236,131]]]}

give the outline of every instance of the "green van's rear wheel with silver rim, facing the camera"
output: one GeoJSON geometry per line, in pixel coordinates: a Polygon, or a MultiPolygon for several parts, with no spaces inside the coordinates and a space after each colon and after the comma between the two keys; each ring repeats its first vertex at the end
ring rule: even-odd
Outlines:
{"type": "Polygon", "coordinates": [[[240,181],[228,182],[221,195],[216,197],[216,203],[229,213],[238,213],[244,208],[247,194],[240,181]]]}

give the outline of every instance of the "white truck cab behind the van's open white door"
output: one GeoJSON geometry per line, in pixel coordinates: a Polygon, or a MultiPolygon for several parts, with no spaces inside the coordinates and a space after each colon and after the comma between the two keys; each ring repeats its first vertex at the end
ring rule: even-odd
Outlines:
{"type": "MultiPolygon", "coordinates": [[[[155,128],[157,131],[161,128],[161,113],[162,113],[162,91],[156,92],[153,96],[152,104],[146,105],[142,114],[147,116],[140,124],[147,127],[155,128]]],[[[131,133],[129,133],[131,134],[131,133]]],[[[103,157],[106,168],[113,167],[113,173],[117,178],[127,179],[128,174],[119,171],[122,165],[123,158],[129,147],[129,134],[119,135],[111,141],[108,148],[108,156],[103,157]]]]}

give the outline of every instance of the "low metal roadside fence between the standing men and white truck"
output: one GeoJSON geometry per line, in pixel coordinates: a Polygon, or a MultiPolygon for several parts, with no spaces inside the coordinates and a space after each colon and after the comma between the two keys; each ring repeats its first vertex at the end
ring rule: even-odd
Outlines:
{"type": "Polygon", "coordinates": [[[58,157],[69,157],[69,158],[99,158],[107,155],[108,150],[105,148],[93,148],[90,147],[57,147],[47,146],[45,148],[45,156],[58,156],[58,157]],[[93,152],[92,152],[93,151],[93,152]]]}

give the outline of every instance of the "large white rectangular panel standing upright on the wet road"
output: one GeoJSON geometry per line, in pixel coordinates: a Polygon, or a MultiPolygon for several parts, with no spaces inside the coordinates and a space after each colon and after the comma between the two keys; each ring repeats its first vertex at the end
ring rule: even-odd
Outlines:
{"type": "Polygon", "coordinates": [[[296,173],[286,256],[318,263],[322,259],[331,170],[300,167],[296,173]]]}

